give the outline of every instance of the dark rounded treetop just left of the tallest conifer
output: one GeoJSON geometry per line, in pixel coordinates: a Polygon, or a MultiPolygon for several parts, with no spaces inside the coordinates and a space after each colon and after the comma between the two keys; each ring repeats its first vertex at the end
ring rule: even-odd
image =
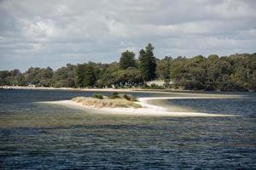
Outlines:
{"type": "Polygon", "coordinates": [[[127,69],[128,67],[135,67],[135,54],[126,50],[122,53],[119,60],[120,69],[127,69]]]}

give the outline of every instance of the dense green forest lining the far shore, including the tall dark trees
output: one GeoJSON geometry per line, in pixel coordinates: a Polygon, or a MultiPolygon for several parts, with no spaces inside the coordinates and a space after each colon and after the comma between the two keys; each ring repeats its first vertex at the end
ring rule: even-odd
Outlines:
{"type": "Polygon", "coordinates": [[[0,86],[40,86],[55,88],[182,88],[192,90],[248,91],[256,89],[256,53],[219,57],[197,55],[173,59],[154,57],[154,47],[134,52],[126,50],[119,62],[88,62],[51,68],[31,67],[21,73],[0,71],[0,86]],[[147,82],[162,80],[162,86],[147,82]]]}

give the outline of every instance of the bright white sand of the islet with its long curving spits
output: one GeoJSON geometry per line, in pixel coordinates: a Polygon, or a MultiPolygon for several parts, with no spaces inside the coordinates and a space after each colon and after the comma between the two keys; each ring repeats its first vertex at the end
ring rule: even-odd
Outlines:
{"type": "Polygon", "coordinates": [[[45,104],[55,104],[64,105],[69,108],[79,109],[83,111],[95,111],[97,114],[112,114],[112,115],[130,115],[130,116],[174,116],[174,117],[185,117],[185,116],[236,116],[236,115],[225,115],[225,114],[210,114],[201,112],[176,112],[167,111],[166,108],[157,105],[148,104],[148,100],[152,99],[223,99],[230,98],[230,96],[212,96],[212,97],[160,97],[160,98],[139,98],[138,104],[142,105],[143,108],[133,109],[133,108],[101,108],[95,109],[89,106],[76,103],[71,100],[61,100],[61,101],[50,101],[41,102],[45,104]]]}

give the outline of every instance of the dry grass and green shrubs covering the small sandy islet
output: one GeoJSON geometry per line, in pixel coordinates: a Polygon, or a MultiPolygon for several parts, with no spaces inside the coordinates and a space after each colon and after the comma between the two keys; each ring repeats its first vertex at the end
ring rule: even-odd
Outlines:
{"type": "Polygon", "coordinates": [[[103,96],[102,94],[93,94],[92,97],[75,97],[71,99],[76,103],[80,103],[85,106],[93,108],[141,108],[142,106],[135,103],[137,100],[130,94],[112,94],[111,96],[103,96]],[[116,95],[113,98],[113,95],[116,95]],[[118,97],[117,97],[118,96],[118,97]],[[130,96],[126,99],[127,96],[130,96]]]}

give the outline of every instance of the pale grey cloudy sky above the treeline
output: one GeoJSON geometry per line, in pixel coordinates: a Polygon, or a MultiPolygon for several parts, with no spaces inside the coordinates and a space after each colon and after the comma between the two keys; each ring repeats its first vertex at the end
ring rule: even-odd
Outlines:
{"type": "Polygon", "coordinates": [[[256,52],[255,0],[0,0],[0,70],[256,52]]]}

